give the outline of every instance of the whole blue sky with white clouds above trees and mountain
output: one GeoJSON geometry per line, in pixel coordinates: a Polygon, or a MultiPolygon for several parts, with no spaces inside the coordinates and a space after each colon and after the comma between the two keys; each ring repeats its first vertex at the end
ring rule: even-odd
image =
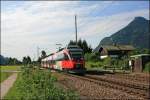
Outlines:
{"type": "Polygon", "coordinates": [[[135,17],[149,19],[149,1],[1,1],[1,54],[36,60],[37,51],[56,52],[75,40],[75,15],[78,39],[94,49],[135,17]]]}

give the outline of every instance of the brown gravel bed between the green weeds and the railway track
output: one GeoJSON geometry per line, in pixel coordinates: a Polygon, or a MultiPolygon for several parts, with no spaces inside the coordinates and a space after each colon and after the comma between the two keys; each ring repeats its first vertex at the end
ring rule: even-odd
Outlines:
{"type": "MultiPolygon", "coordinates": [[[[55,73],[56,75],[56,73],[55,73]]],[[[65,89],[75,90],[81,100],[93,99],[142,99],[135,95],[125,93],[110,87],[101,86],[93,82],[85,81],[76,77],[57,73],[58,82],[65,89]]]]}

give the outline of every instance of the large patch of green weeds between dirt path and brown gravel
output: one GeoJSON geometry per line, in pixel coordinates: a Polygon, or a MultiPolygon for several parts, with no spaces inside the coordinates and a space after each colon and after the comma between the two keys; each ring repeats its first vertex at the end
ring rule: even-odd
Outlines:
{"type": "Polygon", "coordinates": [[[56,87],[56,78],[51,76],[49,70],[24,67],[15,86],[5,97],[18,100],[72,100],[77,99],[73,92],[65,92],[56,87]]]}

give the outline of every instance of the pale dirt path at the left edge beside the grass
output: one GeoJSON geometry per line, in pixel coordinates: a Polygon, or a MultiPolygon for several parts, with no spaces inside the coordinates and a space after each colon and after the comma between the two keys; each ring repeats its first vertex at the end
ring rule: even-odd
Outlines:
{"type": "Polygon", "coordinates": [[[15,82],[16,78],[17,78],[17,73],[14,73],[1,83],[0,99],[2,99],[9,91],[9,89],[13,86],[13,83],[15,82]]]}

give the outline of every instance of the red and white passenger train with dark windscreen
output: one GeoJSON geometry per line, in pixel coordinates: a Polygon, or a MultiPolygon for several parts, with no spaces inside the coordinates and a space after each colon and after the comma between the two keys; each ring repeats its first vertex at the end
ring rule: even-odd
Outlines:
{"type": "Polygon", "coordinates": [[[83,50],[77,45],[69,45],[42,59],[41,66],[73,73],[85,73],[83,50]]]}

